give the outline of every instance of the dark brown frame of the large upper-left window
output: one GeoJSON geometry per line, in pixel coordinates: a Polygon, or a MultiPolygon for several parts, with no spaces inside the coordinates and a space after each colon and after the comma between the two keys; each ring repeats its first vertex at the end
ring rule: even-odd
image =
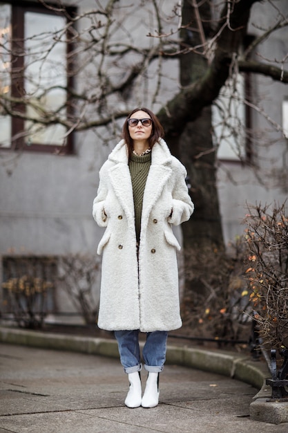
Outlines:
{"type": "MultiPolygon", "coordinates": [[[[24,16],[26,12],[36,12],[47,15],[56,15],[65,17],[68,20],[67,16],[73,16],[76,12],[75,7],[66,7],[65,12],[57,12],[55,10],[50,10],[45,8],[42,4],[35,3],[32,1],[12,1],[12,0],[3,0],[3,3],[8,3],[11,6],[11,50],[12,53],[23,53],[23,44],[24,44],[24,32],[25,32],[25,21],[24,16]],[[17,25],[16,25],[17,24],[17,25]]],[[[48,3],[48,6],[54,6],[57,8],[57,5],[53,3],[48,3]]],[[[71,38],[69,37],[69,30],[67,30],[67,42],[66,42],[66,78],[67,78],[67,87],[68,89],[73,89],[74,86],[74,78],[73,78],[73,62],[68,62],[68,55],[73,50],[73,43],[71,42],[71,38]]],[[[24,91],[24,75],[23,75],[23,66],[25,62],[25,55],[11,55],[11,72],[10,72],[10,80],[11,80],[11,96],[19,98],[21,97],[21,92],[23,94],[24,91]],[[19,73],[20,71],[20,73],[19,73]]],[[[16,107],[16,106],[15,106],[16,107]]],[[[17,110],[22,113],[25,113],[26,107],[25,104],[17,104],[17,110]]],[[[69,102],[69,92],[66,93],[66,115],[73,115],[73,104],[69,102]]],[[[21,151],[37,151],[43,153],[52,153],[52,154],[73,154],[74,152],[74,140],[73,133],[70,133],[66,139],[65,145],[47,145],[41,143],[33,143],[31,145],[27,145],[25,142],[25,138],[23,136],[17,137],[17,134],[21,131],[25,131],[25,118],[10,116],[11,117],[11,141],[9,147],[0,147],[1,150],[21,150],[21,151]],[[15,138],[16,137],[16,138],[15,138]]]]}

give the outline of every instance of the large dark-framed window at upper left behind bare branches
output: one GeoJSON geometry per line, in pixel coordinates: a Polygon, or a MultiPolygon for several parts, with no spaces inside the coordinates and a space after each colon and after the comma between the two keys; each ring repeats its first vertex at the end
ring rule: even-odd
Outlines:
{"type": "Polygon", "coordinates": [[[0,2],[1,147],[72,151],[66,120],[73,85],[67,17],[73,11],[67,8],[64,15],[30,1],[0,2]],[[55,122],[48,122],[51,117],[55,122]]]}

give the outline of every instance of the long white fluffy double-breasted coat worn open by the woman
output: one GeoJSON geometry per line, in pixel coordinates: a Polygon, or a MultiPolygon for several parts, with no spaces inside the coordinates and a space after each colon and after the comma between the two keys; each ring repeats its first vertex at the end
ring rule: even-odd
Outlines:
{"type": "Polygon", "coordinates": [[[152,149],[144,191],[138,268],[124,140],[100,169],[93,202],[95,221],[106,227],[97,249],[103,254],[99,328],[151,332],[182,326],[176,258],[180,245],[171,225],[187,221],[193,212],[185,177],[186,169],[160,139],[152,149]]]}

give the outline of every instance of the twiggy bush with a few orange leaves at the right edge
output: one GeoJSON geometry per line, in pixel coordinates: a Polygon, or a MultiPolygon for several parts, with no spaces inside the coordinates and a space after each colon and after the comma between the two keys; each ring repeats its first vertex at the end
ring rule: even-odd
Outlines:
{"type": "Polygon", "coordinates": [[[288,347],[288,218],[283,205],[255,205],[244,219],[246,275],[263,343],[288,347]]]}

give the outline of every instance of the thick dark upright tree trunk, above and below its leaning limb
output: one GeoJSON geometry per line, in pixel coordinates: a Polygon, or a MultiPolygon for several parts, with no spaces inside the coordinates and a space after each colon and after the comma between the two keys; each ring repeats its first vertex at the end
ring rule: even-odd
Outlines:
{"type": "MultiPolygon", "coordinates": [[[[207,19],[207,23],[211,22],[209,2],[202,4],[200,12],[201,16],[207,19]]],[[[208,24],[206,28],[202,27],[197,19],[197,10],[191,8],[190,1],[184,1],[182,16],[185,27],[182,30],[182,48],[192,44],[200,46],[203,38],[209,36],[208,24]]],[[[207,73],[208,67],[207,59],[203,55],[192,51],[183,54],[180,57],[181,85],[184,88],[192,86],[195,81],[207,73]]],[[[206,260],[209,261],[215,248],[224,249],[215,178],[215,149],[211,135],[211,107],[205,107],[200,117],[186,123],[181,136],[173,140],[172,151],[187,169],[191,198],[195,204],[193,216],[182,225],[184,297],[193,297],[193,293],[203,295],[206,292],[200,278],[199,268],[202,267],[202,263],[198,259],[199,253],[201,257],[207,257],[206,260]],[[203,254],[204,252],[207,252],[207,255],[203,254]]]]}

